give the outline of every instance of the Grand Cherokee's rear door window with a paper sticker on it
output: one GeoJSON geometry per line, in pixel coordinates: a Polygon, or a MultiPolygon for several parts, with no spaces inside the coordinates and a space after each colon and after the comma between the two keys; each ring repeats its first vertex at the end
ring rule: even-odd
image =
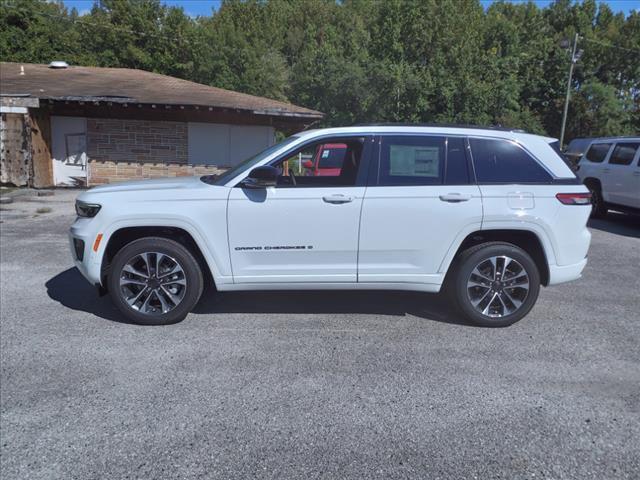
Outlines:
{"type": "Polygon", "coordinates": [[[378,185],[440,185],[444,174],[444,137],[383,136],[378,185]]]}

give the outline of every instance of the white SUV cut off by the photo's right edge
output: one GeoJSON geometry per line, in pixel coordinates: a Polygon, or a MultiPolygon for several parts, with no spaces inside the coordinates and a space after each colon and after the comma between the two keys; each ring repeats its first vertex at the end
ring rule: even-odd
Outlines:
{"type": "Polygon", "coordinates": [[[640,213],[640,137],[594,140],[578,163],[578,176],[591,191],[594,217],[610,208],[640,213]]]}

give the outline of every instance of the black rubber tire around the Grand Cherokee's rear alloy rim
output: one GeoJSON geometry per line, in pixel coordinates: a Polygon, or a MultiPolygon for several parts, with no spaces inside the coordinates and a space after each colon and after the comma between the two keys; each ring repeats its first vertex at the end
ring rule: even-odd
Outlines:
{"type": "MultiPolygon", "coordinates": [[[[540,293],[540,272],[538,271],[538,267],[529,254],[511,243],[488,242],[470,247],[460,254],[453,268],[453,275],[448,285],[449,295],[452,297],[460,313],[476,325],[483,327],[507,327],[513,325],[531,311],[540,293]],[[489,259],[492,257],[502,256],[515,260],[516,263],[519,264],[518,267],[523,268],[528,276],[529,290],[526,293],[526,297],[519,297],[522,303],[513,313],[502,316],[486,315],[473,305],[467,282],[470,280],[471,273],[477,266],[483,265],[483,262],[490,261],[489,259]]],[[[514,292],[513,288],[515,287],[507,287],[512,295],[516,293],[522,295],[521,291],[524,289],[518,289],[518,291],[514,292]]],[[[498,289],[501,293],[500,298],[497,298],[497,300],[501,301],[501,299],[504,298],[502,297],[502,285],[498,286],[498,289]]],[[[483,290],[480,292],[482,294],[483,290]]],[[[491,292],[493,292],[493,290],[491,290],[491,292]]],[[[491,293],[491,295],[493,294],[491,293]]],[[[515,303],[507,299],[505,300],[510,306],[515,306],[515,303]]]]}

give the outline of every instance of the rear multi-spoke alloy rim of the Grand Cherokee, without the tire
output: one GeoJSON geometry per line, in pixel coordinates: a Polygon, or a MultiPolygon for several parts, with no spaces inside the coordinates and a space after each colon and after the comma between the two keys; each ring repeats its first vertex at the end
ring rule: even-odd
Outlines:
{"type": "Polygon", "coordinates": [[[467,280],[474,309],[491,318],[505,317],[522,307],[529,295],[529,275],[517,260],[494,256],[481,261],[467,280]]]}

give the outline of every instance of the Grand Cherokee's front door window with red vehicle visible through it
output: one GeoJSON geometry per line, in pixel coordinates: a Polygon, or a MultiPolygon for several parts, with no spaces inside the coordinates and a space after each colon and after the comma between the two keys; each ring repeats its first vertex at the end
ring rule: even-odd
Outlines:
{"type": "Polygon", "coordinates": [[[354,186],[364,138],[331,139],[307,144],[271,165],[279,170],[279,187],[354,186]]]}

